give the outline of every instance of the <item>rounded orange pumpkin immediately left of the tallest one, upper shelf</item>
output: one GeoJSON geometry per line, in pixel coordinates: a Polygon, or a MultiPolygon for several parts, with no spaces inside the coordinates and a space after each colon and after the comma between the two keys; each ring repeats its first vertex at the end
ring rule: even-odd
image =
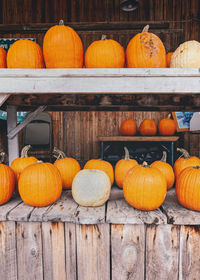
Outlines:
{"type": "Polygon", "coordinates": [[[41,47],[31,40],[14,42],[7,54],[8,68],[44,68],[41,47]]]}

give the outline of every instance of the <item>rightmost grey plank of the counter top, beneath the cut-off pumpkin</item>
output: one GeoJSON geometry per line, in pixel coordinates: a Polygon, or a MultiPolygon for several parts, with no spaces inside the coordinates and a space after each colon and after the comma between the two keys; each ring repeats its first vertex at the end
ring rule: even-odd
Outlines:
{"type": "Polygon", "coordinates": [[[181,206],[176,198],[175,189],[167,192],[162,205],[169,224],[174,225],[200,225],[200,212],[191,211],[181,206]]]}

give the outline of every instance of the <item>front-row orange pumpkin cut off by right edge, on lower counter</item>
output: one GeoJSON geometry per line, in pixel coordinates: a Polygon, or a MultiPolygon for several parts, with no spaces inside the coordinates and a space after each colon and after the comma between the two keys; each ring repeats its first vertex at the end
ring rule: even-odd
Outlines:
{"type": "Polygon", "coordinates": [[[200,166],[185,168],[177,178],[176,196],[184,207],[200,211],[200,166]]]}

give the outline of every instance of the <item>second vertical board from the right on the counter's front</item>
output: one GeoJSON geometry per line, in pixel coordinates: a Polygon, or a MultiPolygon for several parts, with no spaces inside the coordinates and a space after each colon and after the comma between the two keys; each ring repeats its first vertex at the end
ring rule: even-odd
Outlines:
{"type": "Polygon", "coordinates": [[[147,226],[146,280],[178,278],[179,227],[147,226]]]}

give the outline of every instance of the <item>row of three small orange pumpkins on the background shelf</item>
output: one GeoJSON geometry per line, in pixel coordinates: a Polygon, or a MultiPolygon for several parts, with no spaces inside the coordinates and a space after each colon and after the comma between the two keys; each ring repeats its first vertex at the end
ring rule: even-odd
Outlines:
{"type": "MultiPolygon", "coordinates": [[[[171,119],[171,114],[166,118],[161,119],[158,123],[158,128],[154,120],[145,119],[139,126],[139,134],[142,136],[154,136],[157,134],[162,136],[172,136],[176,132],[176,123],[171,119]]],[[[124,136],[133,136],[138,132],[137,124],[134,120],[124,120],[120,125],[120,133],[124,136]]]]}

